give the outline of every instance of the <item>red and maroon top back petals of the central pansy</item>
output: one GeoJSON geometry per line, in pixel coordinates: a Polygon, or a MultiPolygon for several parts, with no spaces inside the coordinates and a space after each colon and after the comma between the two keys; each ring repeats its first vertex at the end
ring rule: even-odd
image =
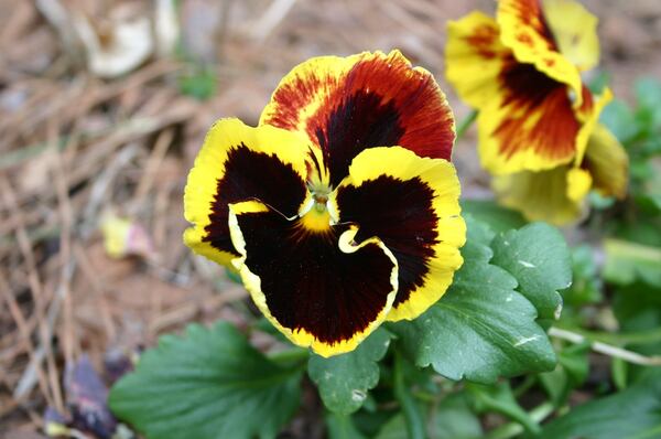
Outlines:
{"type": "Polygon", "coordinates": [[[274,113],[262,122],[304,130],[323,150],[333,185],[351,159],[373,147],[401,146],[421,157],[449,160],[454,118],[437,84],[399,53],[366,54],[347,73],[308,73],[273,94],[274,113]],[[312,116],[303,114],[319,103],[312,116]]]}

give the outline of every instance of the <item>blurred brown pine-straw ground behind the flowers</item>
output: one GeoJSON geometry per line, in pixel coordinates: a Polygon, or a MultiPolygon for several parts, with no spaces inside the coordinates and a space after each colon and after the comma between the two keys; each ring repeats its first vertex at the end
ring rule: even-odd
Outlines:
{"type": "MultiPolygon", "coordinates": [[[[661,2],[583,3],[600,20],[617,97],[631,99],[637,76],[661,77],[661,2]]],[[[187,322],[247,324],[242,287],[181,238],[186,174],[215,119],[256,125],[311,56],[399,47],[462,120],[443,76],[445,24],[495,7],[0,0],[0,437],[42,437],[46,407],[66,413],[82,354],[111,373],[187,322]]],[[[455,161],[464,196],[488,196],[474,128],[455,161]]]]}

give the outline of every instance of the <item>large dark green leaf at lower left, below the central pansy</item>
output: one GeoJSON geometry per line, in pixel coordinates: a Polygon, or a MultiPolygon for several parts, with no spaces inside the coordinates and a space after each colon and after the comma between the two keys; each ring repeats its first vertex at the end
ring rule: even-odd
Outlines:
{"type": "Polygon", "coordinates": [[[142,354],[109,404],[148,438],[273,438],[299,407],[300,382],[300,368],[270,362],[230,324],[192,324],[142,354]]]}

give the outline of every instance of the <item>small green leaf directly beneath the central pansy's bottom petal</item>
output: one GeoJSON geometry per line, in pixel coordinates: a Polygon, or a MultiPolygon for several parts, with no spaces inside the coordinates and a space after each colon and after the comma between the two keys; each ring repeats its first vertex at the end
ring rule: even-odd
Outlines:
{"type": "Polygon", "coordinates": [[[390,333],[379,329],[355,351],[329,358],[311,355],[307,373],[330,411],[348,415],[362,406],[367,390],[379,382],[377,362],[386,355],[389,344],[390,333]]]}

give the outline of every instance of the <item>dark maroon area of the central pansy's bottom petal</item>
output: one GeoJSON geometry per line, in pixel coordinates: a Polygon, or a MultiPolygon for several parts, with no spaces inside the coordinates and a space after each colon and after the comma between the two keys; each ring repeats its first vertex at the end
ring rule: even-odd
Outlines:
{"type": "Polygon", "coordinates": [[[367,329],[387,306],[393,263],[377,244],[345,254],[337,245],[344,227],[304,233],[274,212],[237,220],[246,266],[282,326],[334,344],[367,329]]]}

